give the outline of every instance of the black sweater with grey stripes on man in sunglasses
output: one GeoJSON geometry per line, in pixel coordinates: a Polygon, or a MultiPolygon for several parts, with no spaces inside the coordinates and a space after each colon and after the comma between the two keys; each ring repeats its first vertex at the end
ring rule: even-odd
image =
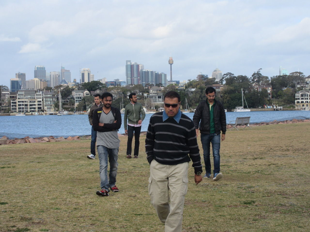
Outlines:
{"type": "Polygon", "coordinates": [[[174,118],[163,122],[162,114],[159,112],[150,118],[145,139],[148,162],[155,159],[161,164],[176,165],[192,160],[195,173],[202,172],[193,121],[181,114],[179,123],[174,118]]]}

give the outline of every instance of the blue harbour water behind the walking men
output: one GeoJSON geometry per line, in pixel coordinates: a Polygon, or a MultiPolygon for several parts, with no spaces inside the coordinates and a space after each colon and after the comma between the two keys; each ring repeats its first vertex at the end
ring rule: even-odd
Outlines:
{"type": "MultiPolygon", "coordinates": [[[[142,123],[141,131],[147,131],[148,121],[153,114],[146,114],[142,123]]],[[[186,114],[193,119],[194,113],[186,114]]],[[[250,122],[271,122],[273,120],[284,121],[310,118],[310,111],[289,110],[289,111],[253,111],[253,112],[227,112],[226,122],[235,120],[236,117],[248,117],[250,122]]],[[[124,114],[122,114],[122,120],[124,114]]],[[[46,115],[46,116],[0,116],[0,137],[6,135],[9,138],[29,137],[68,137],[82,136],[91,134],[91,125],[88,122],[88,115],[46,115]]],[[[118,133],[125,133],[122,121],[122,127],[118,133]]]]}

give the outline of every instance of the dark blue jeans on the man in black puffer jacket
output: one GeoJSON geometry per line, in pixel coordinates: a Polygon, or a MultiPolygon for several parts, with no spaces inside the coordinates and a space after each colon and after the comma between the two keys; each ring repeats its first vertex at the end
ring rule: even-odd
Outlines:
{"type": "Polygon", "coordinates": [[[214,173],[219,173],[219,149],[221,142],[221,135],[212,134],[201,134],[200,136],[201,144],[203,148],[203,160],[205,161],[206,173],[211,174],[211,162],[210,162],[210,143],[212,144],[212,153],[213,153],[213,164],[214,164],[214,173]]]}

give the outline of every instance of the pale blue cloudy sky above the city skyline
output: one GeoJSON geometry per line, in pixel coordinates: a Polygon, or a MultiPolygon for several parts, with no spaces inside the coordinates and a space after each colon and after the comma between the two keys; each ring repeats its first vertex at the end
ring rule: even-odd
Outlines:
{"type": "Polygon", "coordinates": [[[310,2],[228,1],[0,1],[0,84],[15,73],[33,79],[61,64],[79,81],[90,68],[95,80],[125,80],[125,62],[165,72],[172,55],[174,80],[199,72],[266,76],[310,75],[310,2]]]}

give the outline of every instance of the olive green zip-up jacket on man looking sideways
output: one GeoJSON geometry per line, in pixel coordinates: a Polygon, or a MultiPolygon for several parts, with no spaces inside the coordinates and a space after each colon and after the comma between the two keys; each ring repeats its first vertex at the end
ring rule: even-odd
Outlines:
{"type": "Polygon", "coordinates": [[[127,104],[125,106],[125,114],[124,114],[124,128],[127,130],[127,119],[128,124],[138,124],[139,120],[142,121],[145,118],[145,112],[143,110],[143,106],[141,103],[136,102],[135,104],[127,104]]]}

